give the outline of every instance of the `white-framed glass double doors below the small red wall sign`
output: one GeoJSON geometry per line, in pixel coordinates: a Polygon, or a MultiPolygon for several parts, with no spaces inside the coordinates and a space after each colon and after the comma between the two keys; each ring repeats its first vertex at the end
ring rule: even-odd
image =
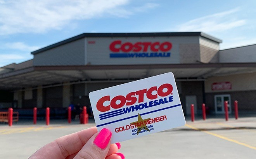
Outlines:
{"type": "Polygon", "coordinates": [[[224,95],[214,95],[214,103],[215,103],[215,113],[216,114],[224,114],[224,101],[228,101],[228,113],[231,113],[231,104],[230,104],[230,95],[224,94],[224,95]]]}

